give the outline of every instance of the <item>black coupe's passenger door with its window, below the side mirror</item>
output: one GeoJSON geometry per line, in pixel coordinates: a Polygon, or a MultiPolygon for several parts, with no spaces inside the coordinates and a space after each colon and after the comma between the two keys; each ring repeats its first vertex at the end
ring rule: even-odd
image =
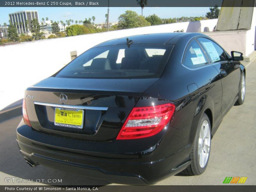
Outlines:
{"type": "Polygon", "coordinates": [[[214,41],[200,37],[201,43],[211,60],[212,65],[218,70],[222,84],[221,111],[224,114],[234,101],[239,88],[240,66],[230,61],[226,52],[214,41]]]}

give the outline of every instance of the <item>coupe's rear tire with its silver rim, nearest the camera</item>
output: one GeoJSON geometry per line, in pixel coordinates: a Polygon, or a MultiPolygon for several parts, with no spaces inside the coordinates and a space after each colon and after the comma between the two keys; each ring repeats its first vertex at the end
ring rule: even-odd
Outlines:
{"type": "Polygon", "coordinates": [[[211,138],[210,120],[204,113],[197,128],[196,138],[190,153],[191,164],[182,173],[200,175],[205,171],[211,151],[211,138]]]}

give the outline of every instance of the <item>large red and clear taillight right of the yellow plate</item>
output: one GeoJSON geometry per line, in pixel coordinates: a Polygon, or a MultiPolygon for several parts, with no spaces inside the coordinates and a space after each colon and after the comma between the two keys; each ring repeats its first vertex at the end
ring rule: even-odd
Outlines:
{"type": "Polygon", "coordinates": [[[116,139],[139,139],[159,133],[172,118],[174,109],[171,103],[133,108],[116,139]]]}

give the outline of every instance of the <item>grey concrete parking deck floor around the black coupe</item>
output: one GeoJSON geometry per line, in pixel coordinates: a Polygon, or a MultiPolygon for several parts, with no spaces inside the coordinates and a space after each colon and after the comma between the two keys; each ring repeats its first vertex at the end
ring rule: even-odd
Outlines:
{"type": "MultiPolygon", "coordinates": [[[[248,65],[248,64],[247,64],[248,65]]],[[[244,185],[256,184],[256,59],[246,67],[246,94],[242,106],[233,106],[224,117],[212,139],[210,161],[199,176],[172,176],[156,185],[222,185],[225,177],[248,177],[244,185]]],[[[60,185],[108,185],[97,180],[48,167],[31,168],[20,155],[16,143],[16,127],[22,116],[0,123],[0,185],[4,178],[62,179],[60,185]]],[[[28,183],[29,184],[29,183],[28,183]]],[[[55,183],[30,183],[55,184],[55,183]]],[[[113,185],[113,184],[111,184],[113,185]]]]}

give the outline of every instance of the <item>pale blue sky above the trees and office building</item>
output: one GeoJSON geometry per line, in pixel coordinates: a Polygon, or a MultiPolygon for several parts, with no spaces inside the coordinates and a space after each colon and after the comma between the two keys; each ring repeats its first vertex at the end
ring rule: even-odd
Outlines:
{"type": "MultiPolygon", "coordinates": [[[[0,24],[8,24],[8,13],[21,10],[37,10],[39,20],[48,17],[49,20],[84,20],[95,16],[95,23],[105,21],[105,14],[108,12],[107,7],[1,7],[0,8],[0,24]]],[[[126,10],[132,10],[141,14],[140,7],[110,7],[109,21],[114,22],[118,20],[120,14],[126,10]]],[[[145,7],[143,9],[143,16],[156,14],[161,18],[181,17],[181,16],[202,16],[209,12],[209,7],[145,7]]]]}

